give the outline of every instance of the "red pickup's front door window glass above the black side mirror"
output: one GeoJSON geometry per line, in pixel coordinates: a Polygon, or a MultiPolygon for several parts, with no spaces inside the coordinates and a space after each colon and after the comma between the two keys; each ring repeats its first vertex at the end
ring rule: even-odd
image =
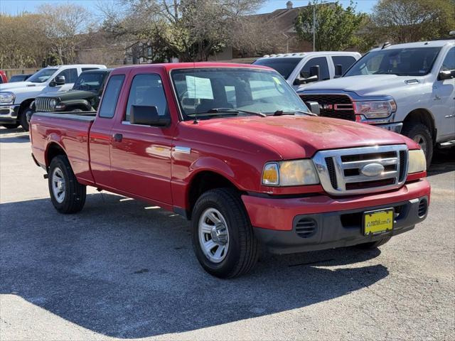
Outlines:
{"type": "Polygon", "coordinates": [[[156,107],[159,117],[169,117],[168,102],[159,75],[147,73],[134,76],[129,90],[125,121],[129,121],[133,105],[156,107]]]}

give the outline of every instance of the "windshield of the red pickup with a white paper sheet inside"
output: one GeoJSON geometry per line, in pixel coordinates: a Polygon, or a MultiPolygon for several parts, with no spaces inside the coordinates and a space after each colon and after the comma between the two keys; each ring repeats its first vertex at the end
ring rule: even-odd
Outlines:
{"type": "Polygon", "coordinates": [[[193,119],[194,114],[208,114],[201,115],[207,119],[228,117],[229,113],[246,116],[309,112],[296,92],[274,71],[210,67],[173,70],[171,77],[183,119],[193,119]]]}

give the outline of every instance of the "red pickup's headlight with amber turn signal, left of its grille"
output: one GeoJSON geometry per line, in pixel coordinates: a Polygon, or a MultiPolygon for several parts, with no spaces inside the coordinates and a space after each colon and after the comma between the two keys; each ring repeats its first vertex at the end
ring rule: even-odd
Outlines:
{"type": "Polygon", "coordinates": [[[311,160],[280,161],[267,163],[262,172],[266,186],[317,185],[319,176],[311,160]]]}

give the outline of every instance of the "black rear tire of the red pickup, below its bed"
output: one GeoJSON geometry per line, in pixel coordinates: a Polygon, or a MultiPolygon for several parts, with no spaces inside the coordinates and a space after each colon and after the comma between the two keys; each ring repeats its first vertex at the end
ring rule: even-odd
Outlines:
{"type": "Polygon", "coordinates": [[[48,186],[50,200],[60,213],[69,214],[76,213],[82,210],[85,204],[86,188],[85,185],[81,185],[77,182],[77,179],[71,169],[70,161],[63,155],[55,156],[50,162],[49,173],[48,173],[48,186]],[[58,198],[53,192],[53,174],[56,168],[60,169],[64,179],[65,194],[63,200],[59,202],[58,198]]]}

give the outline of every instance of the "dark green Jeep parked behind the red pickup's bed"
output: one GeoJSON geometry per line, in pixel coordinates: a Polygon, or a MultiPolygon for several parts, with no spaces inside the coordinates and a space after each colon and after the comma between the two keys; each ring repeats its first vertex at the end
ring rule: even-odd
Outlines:
{"type": "Polygon", "coordinates": [[[100,104],[102,90],[112,69],[84,71],[73,88],[64,92],[40,94],[31,104],[31,112],[92,112],[100,104]]]}

